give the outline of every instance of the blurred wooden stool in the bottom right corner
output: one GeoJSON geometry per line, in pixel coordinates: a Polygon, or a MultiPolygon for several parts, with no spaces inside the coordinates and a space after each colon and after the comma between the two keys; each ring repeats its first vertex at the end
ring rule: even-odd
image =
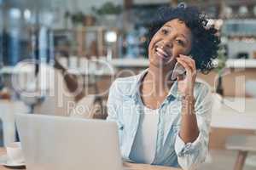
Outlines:
{"type": "Polygon", "coordinates": [[[234,170],[242,170],[248,152],[256,152],[256,136],[237,135],[230,136],[226,140],[227,150],[237,150],[236,163],[234,170]]]}

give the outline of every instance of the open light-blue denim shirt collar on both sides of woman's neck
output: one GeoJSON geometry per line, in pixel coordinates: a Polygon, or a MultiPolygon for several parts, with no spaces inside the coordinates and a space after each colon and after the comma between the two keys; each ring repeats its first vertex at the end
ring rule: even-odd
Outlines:
{"type": "MultiPolygon", "coordinates": [[[[136,83],[135,86],[131,89],[131,98],[132,99],[137,99],[140,95],[140,83],[145,76],[145,74],[148,72],[148,69],[142,71],[140,74],[137,75],[136,83]]],[[[174,98],[179,98],[180,94],[178,93],[177,90],[177,81],[173,82],[172,87],[169,90],[169,93],[167,95],[167,99],[171,99],[172,97],[174,98]]]]}

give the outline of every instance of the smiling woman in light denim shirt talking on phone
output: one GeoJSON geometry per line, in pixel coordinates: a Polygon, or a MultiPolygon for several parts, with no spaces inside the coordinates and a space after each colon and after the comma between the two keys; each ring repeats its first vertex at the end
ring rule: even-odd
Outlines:
{"type": "Polygon", "coordinates": [[[108,97],[108,120],[119,126],[122,156],[129,161],[191,169],[204,161],[211,120],[211,92],[196,71],[212,69],[217,30],[197,8],[162,8],[150,30],[149,66],[118,78],[108,97]],[[193,56],[193,59],[189,56],[193,56]],[[179,63],[186,75],[172,81],[179,63]]]}

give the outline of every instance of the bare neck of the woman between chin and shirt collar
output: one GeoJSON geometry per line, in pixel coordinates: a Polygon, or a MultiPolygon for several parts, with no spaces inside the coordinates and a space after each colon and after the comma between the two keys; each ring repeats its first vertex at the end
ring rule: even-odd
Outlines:
{"type": "Polygon", "coordinates": [[[154,65],[149,65],[148,73],[144,77],[145,86],[150,85],[153,89],[152,94],[162,96],[169,92],[172,87],[170,77],[172,76],[172,69],[159,68],[154,65]]]}

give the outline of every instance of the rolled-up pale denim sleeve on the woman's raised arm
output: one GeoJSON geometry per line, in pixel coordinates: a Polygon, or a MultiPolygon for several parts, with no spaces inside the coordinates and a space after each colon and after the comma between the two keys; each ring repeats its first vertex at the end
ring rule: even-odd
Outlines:
{"type": "Polygon", "coordinates": [[[184,169],[195,169],[205,161],[208,150],[209,130],[212,115],[212,94],[207,85],[200,89],[195,102],[195,114],[200,133],[193,143],[185,144],[177,133],[175,151],[177,161],[184,169]]]}

